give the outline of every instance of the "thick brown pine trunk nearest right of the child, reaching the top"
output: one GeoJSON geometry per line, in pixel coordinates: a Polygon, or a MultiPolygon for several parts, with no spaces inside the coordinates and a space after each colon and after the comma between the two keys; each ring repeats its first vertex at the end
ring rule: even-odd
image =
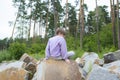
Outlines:
{"type": "Polygon", "coordinates": [[[80,49],[83,48],[83,36],[84,36],[84,0],[80,0],[80,49]]]}

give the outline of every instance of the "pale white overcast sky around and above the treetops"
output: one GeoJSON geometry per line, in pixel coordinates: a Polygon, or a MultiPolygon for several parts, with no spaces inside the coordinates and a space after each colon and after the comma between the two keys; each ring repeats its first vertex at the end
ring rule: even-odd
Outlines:
{"type": "MultiPolygon", "coordinates": [[[[64,5],[66,0],[62,0],[64,5]]],[[[75,0],[68,0],[69,3],[74,5],[75,0]]],[[[88,6],[88,11],[93,11],[95,8],[95,0],[84,0],[88,6]],[[93,1],[93,2],[92,2],[93,1]]],[[[110,0],[98,0],[98,5],[109,6],[110,0]]],[[[15,20],[17,9],[14,8],[12,0],[0,0],[0,39],[6,37],[10,38],[12,34],[13,25],[10,26],[9,21],[15,20]]],[[[110,7],[108,8],[110,11],[110,7]]]]}

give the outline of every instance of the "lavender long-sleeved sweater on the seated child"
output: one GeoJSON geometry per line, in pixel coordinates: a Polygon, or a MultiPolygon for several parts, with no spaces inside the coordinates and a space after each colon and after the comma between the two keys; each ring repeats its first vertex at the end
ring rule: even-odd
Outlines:
{"type": "Polygon", "coordinates": [[[49,57],[62,57],[62,59],[67,59],[67,46],[64,37],[54,36],[49,39],[46,46],[46,59],[49,57]]]}

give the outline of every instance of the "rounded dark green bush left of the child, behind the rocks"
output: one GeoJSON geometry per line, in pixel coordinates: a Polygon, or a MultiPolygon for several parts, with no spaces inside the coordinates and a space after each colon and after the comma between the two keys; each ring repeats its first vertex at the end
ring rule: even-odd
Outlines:
{"type": "Polygon", "coordinates": [[[26,44],[14,42],[10,44],[9,51],[12,55],[12,58],[19,59],[26,52],[26,44]]]}

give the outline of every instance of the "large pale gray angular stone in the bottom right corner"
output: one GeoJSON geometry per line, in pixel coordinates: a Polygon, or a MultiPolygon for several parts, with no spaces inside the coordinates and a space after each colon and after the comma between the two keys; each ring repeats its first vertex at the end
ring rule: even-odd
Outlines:
{"type": "Polygon", "coordinates": [[[120,80],[117,73],[113,73],[106,68],[94,65],[86,80],[120,80]]]}

